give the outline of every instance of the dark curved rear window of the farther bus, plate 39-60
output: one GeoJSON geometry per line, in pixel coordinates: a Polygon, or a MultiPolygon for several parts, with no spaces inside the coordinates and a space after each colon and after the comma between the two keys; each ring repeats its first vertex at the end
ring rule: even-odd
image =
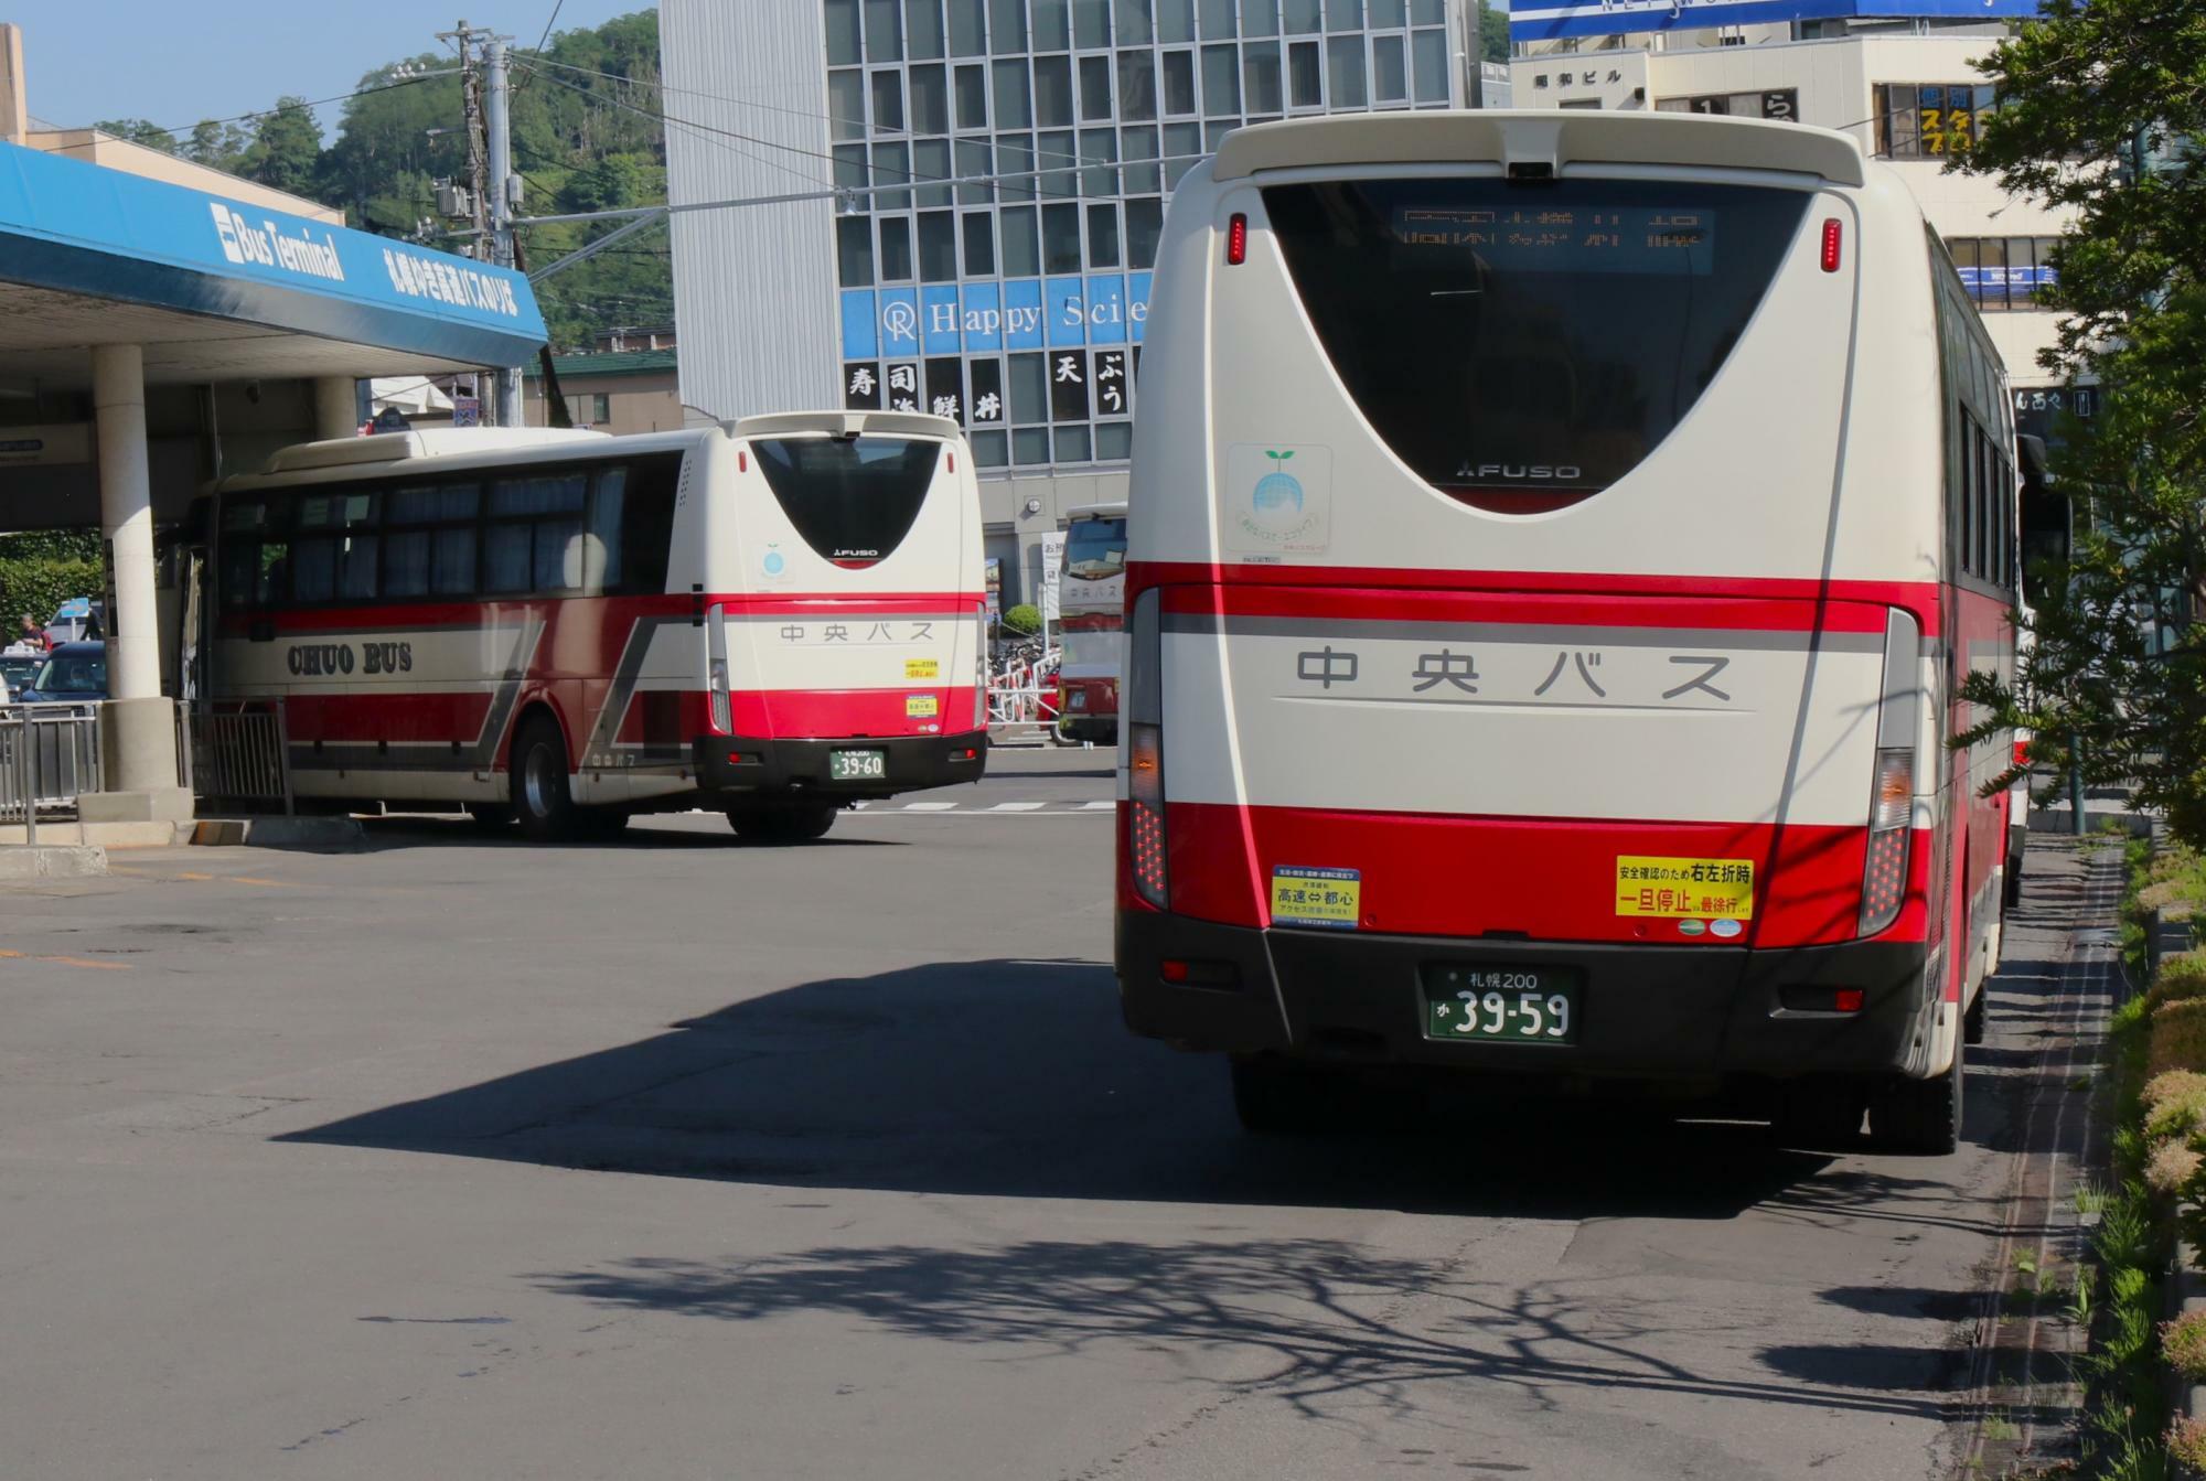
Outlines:
{"type": "Polygon", "coordinates": [[[750,443],[781,514],[840,566],[887,560],[920,518],[942,443],[902,436],[785,436],[750,443]]]}

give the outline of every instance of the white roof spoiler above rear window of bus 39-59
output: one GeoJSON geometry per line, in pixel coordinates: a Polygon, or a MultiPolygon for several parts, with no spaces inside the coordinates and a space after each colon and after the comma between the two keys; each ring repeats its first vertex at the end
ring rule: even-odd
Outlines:
{"type": "Polygon", "coordinates": [[[1805,123],[1692,112],[1363,112],[1238,128],[1218,145],[1213,181],[1310,165],[1498,163],[1511,179],[1566,165],[1710,165],[1785,170],[1862,185],[1862,145],[1805,123]],[[1544,167],[1542,167],[1544,165],[1544,167]]]}

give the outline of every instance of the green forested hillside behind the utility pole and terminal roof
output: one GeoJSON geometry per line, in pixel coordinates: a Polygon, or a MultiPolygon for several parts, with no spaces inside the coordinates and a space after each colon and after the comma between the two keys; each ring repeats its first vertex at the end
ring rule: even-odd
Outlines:
{"type": "MultiPolygon", "coordinates": [[[[450,51],[424,51],[364,73],[346,99],[333,139],[307,99],[280,97],[269,112],[201,123],[176,137],[143,119],[99,128],[278,190],[344,207],[362,229],[413,236],[432,220],[432,245],[459,251],[465,223],[437,218],[437,179],[468,179],[465,108],[459,77],[408,77],[450,71],[450,51]]],[[[602,212],[666,198],[666,143],[660,126],[660,18],[638,11],[598,29],[563,31],[543,53],[514,53],[514,165],[521,214],[602,212]]],[[[254,99],[240,99],[247,106],[254,99]]],[[[543,267],[611,225],[527,227],[523,251],[543,267]]],[[[600,328],[673,320],[664,225],[638,231],[589,262],[538,284],[554,348],[585,348],[600,328]]]]}

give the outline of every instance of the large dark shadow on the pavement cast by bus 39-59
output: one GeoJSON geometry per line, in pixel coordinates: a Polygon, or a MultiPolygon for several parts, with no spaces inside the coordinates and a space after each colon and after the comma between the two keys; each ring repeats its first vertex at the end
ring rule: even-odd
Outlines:
{"type": "Polygon", "coordinates": [[[1127,1036],[1110,967],[1085,961],[807,983],[285,1139],[794,1188],[1542,1219],[1791,1201],[1939,1221],[1913,1177],[1820,1179],[1829,1155],[1648,1102],[1436,1100],[1392,1124],[1253,1137],[1224,1064],[1127,1036]]]}

